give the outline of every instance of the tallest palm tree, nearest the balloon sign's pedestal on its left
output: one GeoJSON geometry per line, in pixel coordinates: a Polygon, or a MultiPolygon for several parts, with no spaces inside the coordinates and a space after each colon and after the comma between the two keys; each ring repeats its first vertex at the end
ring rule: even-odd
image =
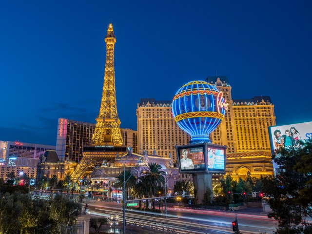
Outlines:
{"type": "MultiPolygon", "coordinates": [[[[166,173],[162,171],[162,167],[156,163],[149,163],[148,170],[143,176],[142,181],[146,187],[152,188],[152,195],[155,195],[155,189],[157,186],[162,186],[165,183],[164,175],[166,173]]],[[[155,200],[153,199],[153,210],[155,210],[155,200]]]]}

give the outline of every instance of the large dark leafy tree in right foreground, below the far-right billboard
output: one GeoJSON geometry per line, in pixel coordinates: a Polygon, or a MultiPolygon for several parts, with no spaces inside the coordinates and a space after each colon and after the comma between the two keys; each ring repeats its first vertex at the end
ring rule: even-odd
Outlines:
{"type": "Polygon", "coordinates": [[[280,172],[263,178],[263,192],[272,208],[269,217],[278,220],[276,234],[302,233],[312,217],[312,141],[304,148],[280,148],[273,159],[280,172]]]}

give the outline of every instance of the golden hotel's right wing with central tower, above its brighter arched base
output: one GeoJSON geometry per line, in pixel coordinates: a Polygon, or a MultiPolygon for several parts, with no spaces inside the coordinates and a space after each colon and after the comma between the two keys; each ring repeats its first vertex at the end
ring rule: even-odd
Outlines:
{"type": "Polygon", "coordinates": [[[271,98],[232,99],[232,87],[227,77],[208,77],[206,81],[222,91],[229,103],[225,121],[210,136],[213,143],[228,146],[227,153],[270,152],[268,128],[276,125],[271,98]]]}

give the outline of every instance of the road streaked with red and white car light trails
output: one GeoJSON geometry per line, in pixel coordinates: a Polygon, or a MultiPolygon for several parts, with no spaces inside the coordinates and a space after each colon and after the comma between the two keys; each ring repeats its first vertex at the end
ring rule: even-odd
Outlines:
{"type": "MultiPolygon", "coordinates": [[[[91,215],[106,216],[119,215],[122,221],[122,206],[116,202],[98,202],[88,200],[91,215]]],[[[194,210],[188,208],[168,208],[168,217],[164,214],[127,210],[127,223],[141,227],[155,227],[157,230],[175,230],[176,233],[194,234],[233,234],[232,221],[237,215],[239,231],[242,234],[272,234],[276,230],[277,222],[266,215],[224,212],[211,210],[194,210]]]]}

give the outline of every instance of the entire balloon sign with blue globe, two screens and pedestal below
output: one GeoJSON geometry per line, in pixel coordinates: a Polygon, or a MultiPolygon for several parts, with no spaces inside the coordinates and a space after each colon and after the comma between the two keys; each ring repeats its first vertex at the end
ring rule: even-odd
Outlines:
{"type": "Polygon", "coordinates": [[[228,109],[223,93],[201,80],[183,85],[172,103],[177,125],[191,136],[188,145],[176,146],[180,173],[194,175],[197,201],[212,189],[212,173],[225,173],[227,146],[212,144],[210,133],[221,123],[228,109]]]}

